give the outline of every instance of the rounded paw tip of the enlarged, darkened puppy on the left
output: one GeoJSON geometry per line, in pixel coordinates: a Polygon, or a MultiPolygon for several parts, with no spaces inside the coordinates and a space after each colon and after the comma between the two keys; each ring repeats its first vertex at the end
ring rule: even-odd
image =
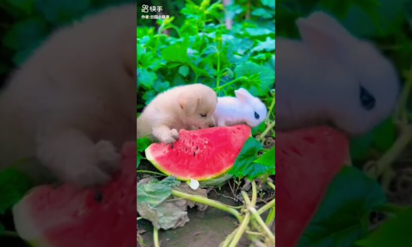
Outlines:
{"type": "Polygon", "coordinates": [[[109,141],[102,140],[94,146],[97,165],[108,173],[114,172],[120,163],[120,155],[109,141]]]}

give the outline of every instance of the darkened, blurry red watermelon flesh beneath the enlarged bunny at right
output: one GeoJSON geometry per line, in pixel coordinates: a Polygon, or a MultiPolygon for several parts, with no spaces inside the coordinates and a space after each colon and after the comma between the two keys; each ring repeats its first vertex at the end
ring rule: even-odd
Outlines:
{"type": "Polygon", "coordinates": [[[346,136],[328,127],[276,134],[276,241],[294,247],[328,185],[348,164],[346,136]]]}

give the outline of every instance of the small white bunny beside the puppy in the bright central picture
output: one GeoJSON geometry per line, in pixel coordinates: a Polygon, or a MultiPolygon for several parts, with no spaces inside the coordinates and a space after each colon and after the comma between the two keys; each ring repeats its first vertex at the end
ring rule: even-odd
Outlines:
{"type": "Polygon", "coordinates": [[[246,123],[256,127],[266,117],[266,106],[246,89],[235,90],[235,97],[218,97],[213,118],[215,126],[233,126],[246,123]]]}

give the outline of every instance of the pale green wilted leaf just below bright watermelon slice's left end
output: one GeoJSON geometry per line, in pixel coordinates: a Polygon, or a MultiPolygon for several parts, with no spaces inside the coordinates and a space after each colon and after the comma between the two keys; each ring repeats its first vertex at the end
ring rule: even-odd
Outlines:
{"type": "Polygon", "coordinates": [[[168,176],[161,181],[152,179],[147,183],[138,182],[136,185],[137,202],[156,207],[172,194],[173,187],[179,185],[180,181],[172,176],[168,176]]]}

